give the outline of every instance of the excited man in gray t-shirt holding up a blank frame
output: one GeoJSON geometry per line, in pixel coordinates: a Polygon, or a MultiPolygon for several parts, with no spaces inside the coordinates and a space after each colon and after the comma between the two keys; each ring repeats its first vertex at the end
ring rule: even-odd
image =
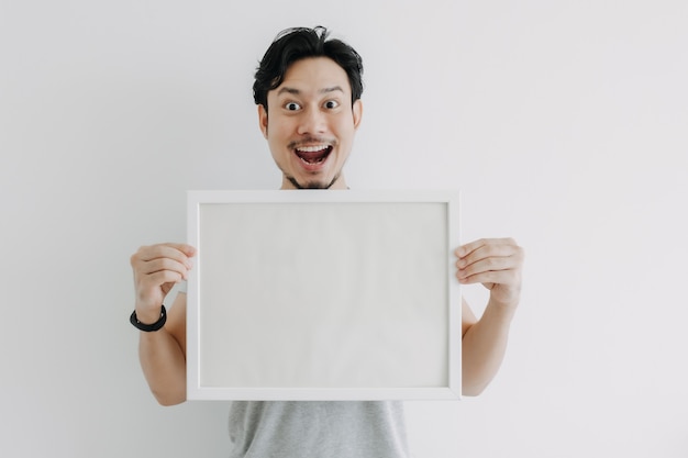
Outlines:
{"type": "MultiPolygon", "coordinates": [[[[358,54],[322,27],[287,30],[270,45],[254,99],[281,189],[347,188],[343,167],[363,114],[362,72],[358,54]]],[[[481,239],[455,254],[458,281],[490,290],[479,321],[463,304],[463,393],[477,395],[503,358],[523,252],[511,239],[481,239]]],[[[191,246],[160,244],[131,258],[132,323],[144,331],[141,365],[164,405],[186,400],[186,294],[177,295],[166,322],[162,304],[187,279],[193,255],[191,246]]],[[[233,457],[408,457],[399,402],[234,402],[230,417],[233,457]]]]}

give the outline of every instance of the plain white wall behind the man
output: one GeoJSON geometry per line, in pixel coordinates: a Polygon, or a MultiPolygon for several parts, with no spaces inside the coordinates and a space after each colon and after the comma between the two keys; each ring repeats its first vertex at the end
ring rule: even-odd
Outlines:
{"type": "MultiPolygon", "coordinates": [[[[349,185],[458,187],[526,249],[487,392],[408,403],[417,457],[688,455],[688,3],[0,1],[0,455],[226,456],[226,404],[156,405],[129,256],[187,189],[279,185],[251,100],[274,35],[364,57],[349,185]]],[[[480,312],[479,288],[466,290],[480,312]]]]}

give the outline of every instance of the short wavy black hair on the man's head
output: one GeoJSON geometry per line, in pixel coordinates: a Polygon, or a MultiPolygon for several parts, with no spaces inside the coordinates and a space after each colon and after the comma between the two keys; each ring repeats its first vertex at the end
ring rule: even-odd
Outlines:
{"type": "Polygon", "coordinates": [[[323,26],[292,27],[281,31],[258,64],[253,83],[253,100],[267,110],[267,93],[281,85],[285,74],[297,60],[329,57],[344,69],[352,89],[352,104],[363,93],[363,60],[358,53],[341,40],[328,40],[323,26]]]}

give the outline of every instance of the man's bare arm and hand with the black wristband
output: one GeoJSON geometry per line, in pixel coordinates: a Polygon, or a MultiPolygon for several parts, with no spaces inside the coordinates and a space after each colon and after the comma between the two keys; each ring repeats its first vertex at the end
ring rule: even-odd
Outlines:
{"type": "MultiPolygon", "coordinates": [[[[136,316],[143,323],[157,321],[165,295],[187,278],[188,245],[163,244],[142,247],[132,256],[136,287],[136,316]]],[[[141,332],[138,359],[151,391],[163,405],[186,400],[186,294],[177,295],[165,326],[157,332],[141,332]]]]}

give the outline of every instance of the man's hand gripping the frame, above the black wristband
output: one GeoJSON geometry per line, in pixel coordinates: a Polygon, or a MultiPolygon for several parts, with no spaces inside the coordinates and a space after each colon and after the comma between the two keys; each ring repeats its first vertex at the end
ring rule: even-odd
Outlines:
{"type": "Polygon", "coordinates": [[[136,290],[136,316],[142,323],[155,323],[160,316],[165,295],[188,278],[196,248],[186,244],[142,246],[132,255],[136,290]]]}

